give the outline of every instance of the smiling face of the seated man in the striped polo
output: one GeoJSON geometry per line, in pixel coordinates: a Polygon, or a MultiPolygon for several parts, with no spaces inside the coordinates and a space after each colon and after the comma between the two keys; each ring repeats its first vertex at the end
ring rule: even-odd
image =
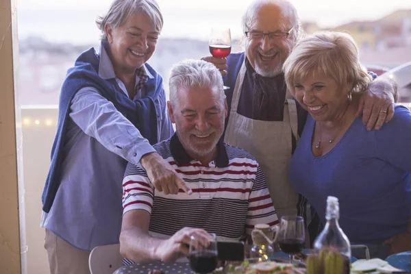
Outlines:
{"type": "Polygon", "coordinates": [[[227,103],[216,88],[180,88],[175,105],[169,105],[177,136],[192,158],[212,158],[223,135],[227,103]]]}

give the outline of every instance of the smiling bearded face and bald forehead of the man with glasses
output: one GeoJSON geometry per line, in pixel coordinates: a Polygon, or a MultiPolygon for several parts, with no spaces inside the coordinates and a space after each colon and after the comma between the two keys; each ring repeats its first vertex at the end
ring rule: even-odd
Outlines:
{"type": "MultiPolygon", "coordinates": [[[[288,32],[292,18],[288,5],[262,4],[256,8],[253,21],[247,25],[249,32],[288,32]]],[[[286,36],[263,39],[245,38],[245,52],[253,69],[264,77],[274,77],[282,73],[282,65],[294,47],[294,39],[286,36]]]]}

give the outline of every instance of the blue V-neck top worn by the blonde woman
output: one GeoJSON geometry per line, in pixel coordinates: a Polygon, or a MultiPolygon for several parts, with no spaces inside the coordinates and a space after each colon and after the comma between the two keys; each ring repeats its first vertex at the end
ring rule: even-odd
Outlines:
{"type": "Polygon", "coordinates": [[[327,196],[340,201],[340,225],[354,243],[381,244],[411,217],[411,112],[400,105],[379,130],[353,121],[336,146],[314,157],[309,115],[292,155],[290,182],[325,221],[327,196]]]}

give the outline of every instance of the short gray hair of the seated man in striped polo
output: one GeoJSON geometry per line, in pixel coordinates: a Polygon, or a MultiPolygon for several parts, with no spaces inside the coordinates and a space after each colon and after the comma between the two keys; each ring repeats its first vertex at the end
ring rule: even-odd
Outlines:
{"type": "Polygon", "coordinates": [[[214,64],[203,60],[184,60],[173,66],[169,79],[170,103],[177,103],[177,92],[180,88],[210,87],[217,88],[221,103],[224,102],[225,93],[223,77],[214,64]]]}

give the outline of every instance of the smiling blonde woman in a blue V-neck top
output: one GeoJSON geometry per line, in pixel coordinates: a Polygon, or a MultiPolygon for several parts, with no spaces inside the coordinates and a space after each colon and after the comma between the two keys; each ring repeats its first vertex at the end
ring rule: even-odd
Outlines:
{"type": "Polygon", "coordinates": [[[371,77],[349,34],[299,41],[284,73],[310,113],[290,163],[292,186],[323,221],[327,196],[338,197],[341,228],[351,243],[369,246],[371,256],[411,250],[410,111],[395,105],[392,121],[372,131],[356,118],[358,92],[371,77]]]}

